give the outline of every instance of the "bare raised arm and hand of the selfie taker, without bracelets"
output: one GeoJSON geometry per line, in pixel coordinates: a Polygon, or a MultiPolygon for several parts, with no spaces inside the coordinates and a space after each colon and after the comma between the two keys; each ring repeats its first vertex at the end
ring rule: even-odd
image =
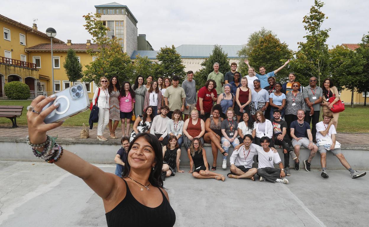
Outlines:
{"type": "MultiPolygon", "coordinates": [[[[45,117],[58,107],[58,103],[51,105],[44,111],[41,110],[46,104],[55,100],[55,98],[55,95],[49,97],[38,96],[31,102],[33,109],[37,112],[41,112],[39,114],[33,111],[27,112],[28,134],[32,144],[44,143],[46,141],[46,132],[62,125],[62,122],[44,123],[45,117]]],[[[43,149],[44,147],[41,147],[37,150],[42,152],[43,149]]],[[[31,148],[27,152],[31,152],[31,148]]],[[[106,199],[114,188],[114,174],[105,173],[72,152],[68,152],[68,150],[63,150],[61,158],[55,162],[55,164],[69,173],[82,178],[82,180],[103,199],[106,199]]]]}

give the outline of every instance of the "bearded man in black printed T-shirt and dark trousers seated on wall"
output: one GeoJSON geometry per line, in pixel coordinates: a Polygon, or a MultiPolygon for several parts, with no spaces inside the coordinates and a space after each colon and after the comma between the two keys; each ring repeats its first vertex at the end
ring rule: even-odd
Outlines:
{"type": "Polygon", "coordinates": [[[295,153],[293,152],[293,146],[291,139],[287,135],[287,123],[286,121],[280,120],[280,110],[273,111],[273,139],[275,145],[283,146],[283,156],[284,156],[284,170],[287,176],[290,176],[290,156],[293,160],[297,159],[295,153]]]}

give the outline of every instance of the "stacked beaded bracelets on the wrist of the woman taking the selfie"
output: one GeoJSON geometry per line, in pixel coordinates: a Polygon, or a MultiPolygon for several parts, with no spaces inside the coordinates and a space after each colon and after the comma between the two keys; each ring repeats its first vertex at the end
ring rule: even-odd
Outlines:
{"type": "Polygon", "coordinates": [[[46,135],[45,142],[41,144],[33,144],[30,141],[30,137],[27,136],[27,143],[31,146],[33,154],[40,159],[44,159],[47,163],[55,163],[63,155],[62,146],[58,145],[55,140],[56,137],[46,135]],[[44,149],[41,152],[37,150],[37,148],[42,147],[44,147],[44,149]]]}

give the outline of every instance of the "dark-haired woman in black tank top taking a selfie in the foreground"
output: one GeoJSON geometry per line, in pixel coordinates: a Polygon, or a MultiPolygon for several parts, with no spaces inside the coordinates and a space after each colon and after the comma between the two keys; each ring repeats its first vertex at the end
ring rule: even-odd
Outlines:
{"type": "Polygon", "coordinates": [[[42,108],[55,98],[56,95],[38,96],[31,102],[30,110],[35,112],[27,112],[30,135],[27,140],[35,155],[83,179],[103,199],[107,226],[123,223],[125,226],[173,226],[175,212],[160,178],[163,154],[156,137],[150,134],[135,137],[128,148],[123,178],[106,173],[73,152],[63,150],[56,138],[46,136],[47,131],[62,124],[44,123],[45,117],[59,104],[44,111],[42,108]],[[142,217],[137,218],[138,214],[142,217]]]}

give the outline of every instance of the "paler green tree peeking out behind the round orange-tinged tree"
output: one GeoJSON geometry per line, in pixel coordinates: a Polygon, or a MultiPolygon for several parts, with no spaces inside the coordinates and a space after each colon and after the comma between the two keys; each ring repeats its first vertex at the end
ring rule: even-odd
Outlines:
{"type": "Polygon", "coordinates": [[[249,58],[252,49],[254,49],[254,46],[259,44],[260,39],[270,34],[275,37],[277,36],[271,30],[267,30],[264,27],[262,27],[260,31],[252,33],[249,36],[246,45],[242,46],[242,49],[238,51],[238,56],[242,57],[238,65],[238,71],[241,73],[241,75],[243,76],[248,75],[248,67],[244,63],[244,60],[249,58]]]}

